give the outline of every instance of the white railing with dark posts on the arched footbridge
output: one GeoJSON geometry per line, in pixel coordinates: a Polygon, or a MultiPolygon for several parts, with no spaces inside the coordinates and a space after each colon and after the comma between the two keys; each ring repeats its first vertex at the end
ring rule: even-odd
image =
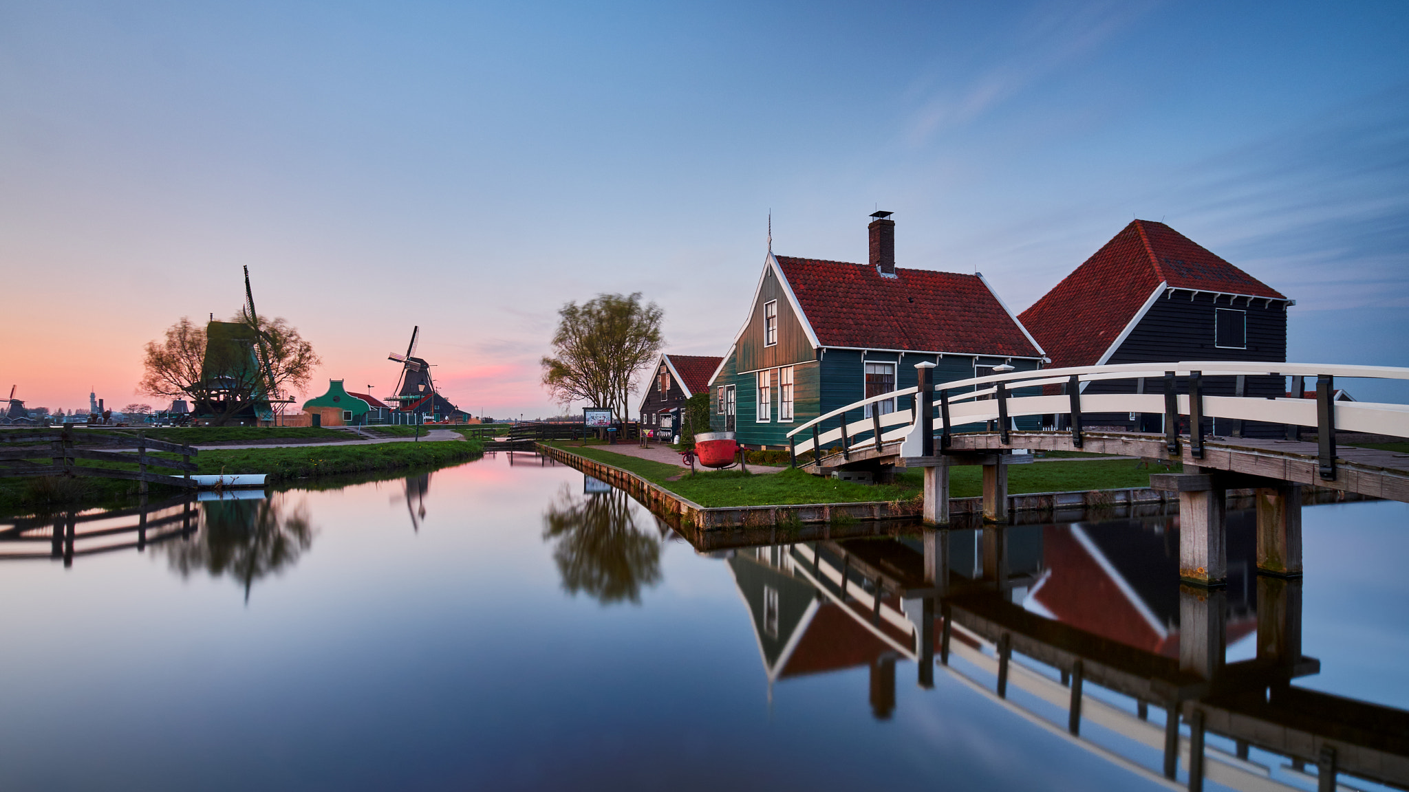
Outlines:
{"type": "MultiPolygon", "coordinates": [[[[920,382],[917,388],[862,399],[789,431],[793,464],[796,465],[797,454],[809,451],[820,461],[826,450],[834,445],[841,448],[844,459],[850,459],[852,452],[868,450],[883,455],[885,445],[898,441],[900,447],[890,451],[900,457],[933,457],[936,450],[943,452],[948,447],[954,427],[988,421],[995,421],[1003,444],[1007,444],[1012,419],[1023,416],[1065,416],[1072,445],[1081,448],[1084,414],[1144,413],[1164,416],[1171,454],[1178,452],[1181,437],[1186,437],[1195,459],[1203,458],[1203,419],[1316,427],[1320,475],[1334,479],[1336,430],[1409,437],[1409,404],[1334,400],[1337,376],[1409,379],[1409,368],[1184,361],[1014,371],[930,385],[933,368],[933,364],[916,365],[920,382]],[[1208,396],[1203,393],[1206,376],[1291,376],[1292,393],[1296,396],[1208,396]],[[1298,397],[1305,392],[1306,378],[1316,378],[1316,399],[1298,397]],[[1143,379],[1154,392],[1082,393],[1091,382],[1119,379],[1143,379]],[[1013,393],[1047,385],[1061,385],[1065,392],[1057,396],[1013,393]],[[881,404],[898,396],[916,399],[909,410],[881,414],[881,404]],[[847,420],[848,413],[865,412],[867,406],[871,406],[869,417],[847,420]],[[1181,417],[1188,417],[1192,427],[1189,435],[1178,434],[1181,417]],[[824,430],[824,424],[831,421],[836,427],[824,430]]],[[[1289,430],[1289,435],[1299,438],[1296,430],[1289,430]]]]}

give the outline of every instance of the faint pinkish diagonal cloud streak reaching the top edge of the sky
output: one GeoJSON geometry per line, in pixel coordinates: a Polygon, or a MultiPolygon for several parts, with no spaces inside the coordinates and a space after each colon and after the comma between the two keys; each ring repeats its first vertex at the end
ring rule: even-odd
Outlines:
{"type": "Polygon", "coordinates": [[[991,63],[972,75],[927,75],[941,87],[909,124],[912,144],[974,123],[1023,90],[1058,73],[1157,6],[1144,1],[1041,3],[985,47],[991,63]]]}

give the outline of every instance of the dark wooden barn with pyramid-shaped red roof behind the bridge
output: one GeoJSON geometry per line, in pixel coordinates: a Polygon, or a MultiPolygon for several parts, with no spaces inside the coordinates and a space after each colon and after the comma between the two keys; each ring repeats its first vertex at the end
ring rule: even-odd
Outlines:
{"type": "MultiPolygon", "coordinates": [[[[1019,318],[1053,366],[1165,361],[1286,361],[1286,306],[1278,290],[1164,223],[1134,220],[1019,318]]],[[[1212,396],[1281,396],[1282,378],[1217,378],[1212,396]]],[[[1133,392],[1151,380],[1093,382],[1085,393],[1133,392]]],[[[1161,390],[1162,392],[1162,390],[1161,390]]],[[[1161,414],[1088,414],[1088,426],[1162,431],[1161,414]]],[[[1215,434],[1234,427],[1219,421],[1215,434]]],[[[1250,424],[1279,437],[1281,426],[1250,424]]]]}

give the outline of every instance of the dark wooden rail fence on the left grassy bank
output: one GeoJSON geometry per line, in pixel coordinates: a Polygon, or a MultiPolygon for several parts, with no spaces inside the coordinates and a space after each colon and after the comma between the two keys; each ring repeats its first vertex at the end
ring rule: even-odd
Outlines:
{"type": "Polygon", "coordinates": [[[0,478],[32,478],[32,476],[85,476],[103,479],[128,479],[141,482],[139,492],[147,492],[148,483],[165,483],[169,486],[194,488],[196,482],[190,474],[196,471],[196,464],[190,461],[199,451],[190,445],[178,445],[162,440],[152,440],[142,433],[131,434],[100,434],[92,430],[75,430],[65,426],[62,431],[49,433],[0,433],[0,478]],[[94,448],[76,448],[75,441],[83,445],[120,445],[123,451],[100,451],[94,448]],[[31,445],[15,448],[15,445],[31,445]],[[48,444],[48,448],[32,444],[48,444]],[[6,448],[4,445],[8,445],[6,448]],[[131,451],[128,451],[130,448],[131,451]],[[166,451],[180,454],[180,461],[152,457],[152,451],[166,451]],[[137,469],[127,468],[97,468],[79,465],[79,459],[94,459],[100,462],[118,462],[135,465],[137,469]],[[46,462],[46,464],[45,464],[46,462]],[[182,471],[180,476],[154,474],[148,468],[165,468],[182,471]]]}

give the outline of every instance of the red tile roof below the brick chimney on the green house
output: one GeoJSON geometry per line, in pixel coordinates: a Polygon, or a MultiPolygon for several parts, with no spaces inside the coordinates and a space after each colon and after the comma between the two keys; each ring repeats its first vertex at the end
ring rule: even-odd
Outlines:
{"type": "Polygon", "coordinates": [[[1041,357],[978,275],[776,259],[823,347],[1041,357]]]}

